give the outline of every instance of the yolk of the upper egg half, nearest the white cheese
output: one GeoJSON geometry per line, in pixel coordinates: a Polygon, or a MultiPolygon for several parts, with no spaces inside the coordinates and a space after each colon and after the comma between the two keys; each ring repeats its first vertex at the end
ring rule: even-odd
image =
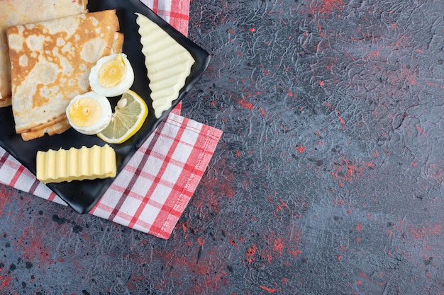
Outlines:
{"type": "Polygon", "coordinates": [[[116,55],[115,59],[105,62],[99,69],[99,83],[106,88],[116,87],[125,78],[126,66],[123,57],[116,55]]]}

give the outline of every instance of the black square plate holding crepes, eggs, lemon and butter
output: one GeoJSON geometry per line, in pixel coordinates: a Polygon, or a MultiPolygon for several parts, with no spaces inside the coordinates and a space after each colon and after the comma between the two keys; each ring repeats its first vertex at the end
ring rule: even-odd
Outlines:
{"type": "MultiPolygon", "coordinates": [[[[116,9],[121,32],[125,35],[123,52],[128,56],[134,69],[135,79],[131,90],[138,93],[149,108],[148,117],[143,127],[131,139],[123,144],[110,144],[116,151],[117,173],[119,173],[133,154],[135,154],[135,151],[152,134],[157,125],[167,117],[171,110],[194,86],[196,81],[199,80],[209,64],[210,57],[208,52],[175,30],[169,23],[157,16],[156,13],[139,0],[89,0],[88,2],[90,12],[116,9]],[[148,86],[149,80],[147,69],[145,68],[145,57],[141,51],[142,45],[140,44],[138,25],[135,23],[135,12],[145,15],[157,23],[174,40],[185,47],[196,60],[185,86],[179,92],[179,97],[173,101],[172,108],[163,112],[162,117],[158,119],[155,117],[154,110],[152,109],[151,91],[148,86]]],[[[23,141],[21,136],[15,132],[11,107],[0,108],[0,145],[34,175],[37,151],[58,150],[60,148],[70,149],[70,147],[79,149],[82,146],[90,147],[94,144],[104,146],[106,143],[99,139],[99,137],[83,135],[72,128],[62,134],[52,135],[51,137],[45,135],[38,139],[23,141]]],[[[74,180],[70,183],[49,183],[48,187],[67,202],[72,209],[79,213],[85,213],[94,207],[112,182],[113,178],[104,180],[74,180]]]]}

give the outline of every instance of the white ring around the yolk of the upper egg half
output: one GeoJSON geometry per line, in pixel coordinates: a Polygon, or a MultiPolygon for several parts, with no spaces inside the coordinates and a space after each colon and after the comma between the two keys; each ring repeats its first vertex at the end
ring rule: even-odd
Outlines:
{"type": "Polygon", "coordinates": [[[89,73],[89,86],[91,86],[91,90],[96,93],[101,94],[106,97],[120,96],[122,93],[126,92],[134,82],[134,71],[133,66],[131,66],[126,54],[124,53],[116,53],[107,55],[106,57],[101,57],[96,64],[91,68],[89,73]],[[118,85],[114,87],[105,87],[99,83],[99,71],[101,66],[103,66],[106,62],[109,62],[112,59],[116,59],[116,56],[120,55],[123,58],[123,62],[125,63],[126,73],[123,77],[123,80],[118,83],[118,85]]]}

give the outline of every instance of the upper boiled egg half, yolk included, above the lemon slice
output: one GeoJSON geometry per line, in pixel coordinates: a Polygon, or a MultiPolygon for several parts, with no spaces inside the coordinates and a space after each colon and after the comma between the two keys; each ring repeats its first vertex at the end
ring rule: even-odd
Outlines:
{"type": "Polygon", "coordinates": [[[133,82],[133,67],[124,53],[101,57],[89,73],[91,90],[102,96],[120,96],[133,82]]]}

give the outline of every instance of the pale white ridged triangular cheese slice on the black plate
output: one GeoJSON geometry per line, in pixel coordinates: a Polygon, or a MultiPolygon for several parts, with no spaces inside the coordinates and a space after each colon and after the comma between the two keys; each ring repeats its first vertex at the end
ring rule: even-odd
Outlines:
{"type": "Polygon", "coordinates": [[[140,13],[135,14],[150,79],[152,108],[158,118],[179,97],[195,61],[192,54],[159,25],[140,13]]]}

